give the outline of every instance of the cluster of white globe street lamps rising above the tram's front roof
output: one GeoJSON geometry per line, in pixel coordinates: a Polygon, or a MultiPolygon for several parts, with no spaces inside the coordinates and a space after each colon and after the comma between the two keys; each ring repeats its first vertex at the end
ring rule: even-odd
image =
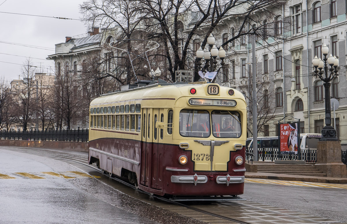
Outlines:
{"type": "Polygon", "coordinates": [[[206,69],[206,71],[209,72],[215,71],[218,63],[217,57],[221,59],[221,68],[224,67],[224,58],[226,56],[226,52],[222,47],[218,49],[215,46],[214,42],[215,38],[212,36],[212,34],[210,34],[210,36],[207,38],[207,43],[209,45],[210,51],[204,51],[201,47],[196,51],[196,58],[198,59],[197,65],[199,69],[201,68],[201,59],[203,58],[205,59],[205,66],[203,67],[203,70],[206,69]]]}

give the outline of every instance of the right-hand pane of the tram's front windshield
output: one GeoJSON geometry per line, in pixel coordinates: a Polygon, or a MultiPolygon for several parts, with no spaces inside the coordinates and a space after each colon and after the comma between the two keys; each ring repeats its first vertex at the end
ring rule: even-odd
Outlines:
{"type": "Polygon", "coordinates": [[[239,138],[241,116],[236,111],[212,111],[212,133],[217,138],[239,138]]]}

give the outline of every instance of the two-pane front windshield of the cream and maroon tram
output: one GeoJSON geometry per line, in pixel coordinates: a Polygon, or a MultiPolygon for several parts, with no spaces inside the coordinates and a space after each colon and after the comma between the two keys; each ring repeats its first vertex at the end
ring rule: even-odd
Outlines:
{"type": "MultiPolygon", "coordinates": [[[[217,138],[241,136],[241,118],[235,111],[212,111],[212,134],[217,138]]],[[[210,113],[205,110],[181,110],[179,133],[185,137],[209,137],[211,134],[210,113]]]]}

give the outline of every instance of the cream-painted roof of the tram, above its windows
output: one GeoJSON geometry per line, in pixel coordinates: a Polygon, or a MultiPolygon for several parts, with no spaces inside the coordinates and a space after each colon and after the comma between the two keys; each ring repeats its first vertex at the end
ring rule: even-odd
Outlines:
{"type": "MultiPolygon", "coordinates": [[[[211,84],[211,83],[208,83],[211,84]]],[[[213,83],[215,85],[215,83],[213,83]]],[[[199,88],[203,88],[204,84],[153,84],[143,87],[128,89],[125,91],[119,91],[114,93],[103,94],[98,98],[92,100],[91,105],[104,104],[110,102],[121,102],[128,100],[141,100],[141,99],[152,99],[152,98],[175,98],[176,100],[182,96],[192,96],[192,97],[206,97],[213,95],[189,95],[189,89],[194,87],[199,93],[199,88]]],[[[218,85],[218,84],[217,84],[218,85]]],[[[220,86],[220,88],[233,89],[234,95],[232,98],[240,98],[245,101],[242,93],[231,87],[220,86]]],[[[230,97],[227,95],[227,91],[221,92],[221,98],[230,97]],[[225,92],[225,93],[224,93],[225,92]]],[[[201,93],[201,92],[200,92],[201,93]]],[[[215,96],[213,96],[215,97],[215,96]]]]}

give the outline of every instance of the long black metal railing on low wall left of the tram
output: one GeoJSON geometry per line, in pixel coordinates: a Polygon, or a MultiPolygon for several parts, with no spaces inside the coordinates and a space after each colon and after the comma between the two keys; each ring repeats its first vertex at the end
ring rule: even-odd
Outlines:
{"type": "Polygon", "coordinates": [[[0,130],[0,139],[41,140],[41,141],[81,141],[88,142],[89,129],[7,131],[0,130]]]}

